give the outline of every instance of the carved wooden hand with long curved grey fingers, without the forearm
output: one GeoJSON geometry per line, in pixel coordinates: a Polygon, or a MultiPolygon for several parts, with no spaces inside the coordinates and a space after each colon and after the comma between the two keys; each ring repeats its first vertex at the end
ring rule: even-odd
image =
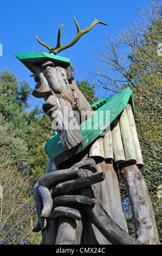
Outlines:
{"type": "Polygon", "coordinates": [[[33,231],[45,230],[47,226],[46,218],[56,218],[59,215],[63,215],[80,220],[80,212],[66,205],[94,205],[96,200],[87,196],[69,193],[79,191],[83,187],[104,179],[103,173],[93,174],[94,172],[96,172],[94,160],[86,159],[74,164],[70,169],[56,170],[41,176],[34,186],[38,221],[33,231]],[[83,168],[89,169],[92,175],[85,176],[85,169],[83,168]]]}

